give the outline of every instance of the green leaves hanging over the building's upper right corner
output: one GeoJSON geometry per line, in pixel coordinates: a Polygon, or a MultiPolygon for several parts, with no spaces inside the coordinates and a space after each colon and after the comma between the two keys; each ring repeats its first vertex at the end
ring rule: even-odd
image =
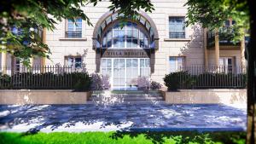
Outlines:
{"type": "Polygon", "coordinates": [[[240,40],[249,28],[247,1],[189,0],[185,6],[188,6],[187,25],[200,23],[212,30],[224,26],[224,21],[232,18],[236,21],[233,26],[236,32],[232,33],[234,41],[240,40]]]}

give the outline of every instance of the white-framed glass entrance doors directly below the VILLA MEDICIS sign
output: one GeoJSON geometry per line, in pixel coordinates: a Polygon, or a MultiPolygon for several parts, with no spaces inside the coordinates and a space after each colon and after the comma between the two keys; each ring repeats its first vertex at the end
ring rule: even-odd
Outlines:
{"type": "Polygon", "coordinates": [[[137,90],[137,78],[150,77],[148,58],[102,58],[102,75],[108,75],[112,89],[137,90]]]}

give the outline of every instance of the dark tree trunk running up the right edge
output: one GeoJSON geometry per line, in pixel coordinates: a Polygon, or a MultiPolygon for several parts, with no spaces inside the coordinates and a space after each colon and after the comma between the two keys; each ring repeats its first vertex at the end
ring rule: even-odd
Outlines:
{"type": "Polygon", "coordinates": [[[250,42],[247,47],[247,144],[255,144],[256,139],[256,14],[253,0],[247,0],[250,11],[250,42]]]}

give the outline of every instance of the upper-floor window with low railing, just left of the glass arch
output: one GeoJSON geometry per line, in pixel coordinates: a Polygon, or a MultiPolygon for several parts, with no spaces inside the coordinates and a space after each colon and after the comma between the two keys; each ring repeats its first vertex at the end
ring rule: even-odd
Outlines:
{"type": "Polygon", "coordinates": [[[67,20],[66,37],[82,37],[82,19],[67,20]]]}

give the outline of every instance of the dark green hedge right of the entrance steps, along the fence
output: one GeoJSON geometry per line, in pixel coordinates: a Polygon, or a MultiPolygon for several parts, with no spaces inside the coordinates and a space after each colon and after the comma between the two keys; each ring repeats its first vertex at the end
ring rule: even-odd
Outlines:
{"type": "Polygon", "coordinates": [[[212,72],[190,75],[188,72],[172,72],[166,75],[164,82],[171,91],[177,89],[241,89],[247,86],[247,75],[212,72]]]}

